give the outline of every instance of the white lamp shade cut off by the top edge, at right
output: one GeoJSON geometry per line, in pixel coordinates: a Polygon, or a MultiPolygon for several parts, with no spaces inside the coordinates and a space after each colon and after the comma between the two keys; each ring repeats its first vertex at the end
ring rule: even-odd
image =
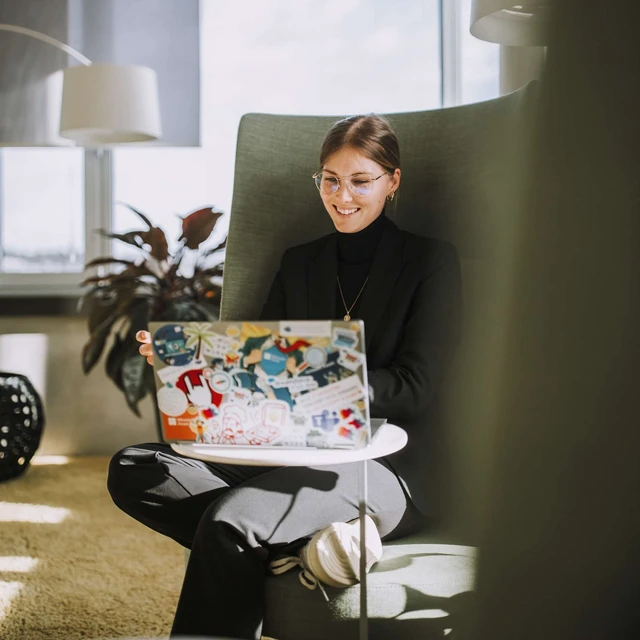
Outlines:
{"type": "Polygon", "coordinates": [[[508,46],[542,47],[552,0],[473,0],[471,34],[508,46]]]}

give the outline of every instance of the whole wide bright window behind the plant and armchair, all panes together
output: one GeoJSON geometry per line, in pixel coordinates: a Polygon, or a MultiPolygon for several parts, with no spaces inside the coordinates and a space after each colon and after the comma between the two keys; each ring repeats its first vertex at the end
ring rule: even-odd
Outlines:
{"type": "Polygon", "coordinates": [[[161,226],[170,247],[178,216],[205,205],[228,212],[244,113],[393,113],[497,96],[499,48],[470,35],[470,4],[201,2],[202,147],[0,151],[0,295],[18,285],[41,293],[43,282],[77,294],[86,260],[131,255],[95,233],[140,228],[122,202],[161,226]]]}

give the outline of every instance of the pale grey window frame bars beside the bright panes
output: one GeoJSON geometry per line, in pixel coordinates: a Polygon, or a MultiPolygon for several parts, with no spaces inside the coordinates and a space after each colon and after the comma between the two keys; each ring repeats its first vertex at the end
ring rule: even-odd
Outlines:
{"type": "MultiPolygon", "coordinates": [[[[460,104],[462,43],[459,37],[462,0],[439,0],[440,104],[460,104]]],[[[113,153],[85,149],[85,262],[110,255],[110,240],[95,229],[111,229],[113,210],[113,153]]],[[[0,185],[1,188],[1,185],[0,185]]],[[[1,212],[0,212],[1,214],[1,212]]],[[[0,299],[16,297],[70,297],[82,294],[82,273],[1,273],[0,299]]]]}

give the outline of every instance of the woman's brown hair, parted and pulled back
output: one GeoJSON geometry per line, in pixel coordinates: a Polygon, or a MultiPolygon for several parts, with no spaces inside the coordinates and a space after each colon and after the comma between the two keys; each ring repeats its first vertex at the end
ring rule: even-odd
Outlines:
{"type": "Polygon", "coordinates": [[[338,120],[320,149],[320,166],[334,154],[351,147],[393,173],[400,168],[400,145],[389,121],[374,113],[338,120]]]}

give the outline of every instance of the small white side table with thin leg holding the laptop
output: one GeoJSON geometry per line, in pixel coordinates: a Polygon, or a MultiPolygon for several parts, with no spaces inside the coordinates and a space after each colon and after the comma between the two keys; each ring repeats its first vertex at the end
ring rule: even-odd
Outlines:
{"type": "Polygon", "coordinates": [[[367,573],[364,516],[367,512],[367,460],[374,460],[400,451],[407,444],[407,433],[400,427],[384,423],[363,449],[280,449],[271,447],[217,447],[212,444],[172,444],[171,448],[183,456],[222,464],[256,465],[260,467],[310,467],[347,462],[360,462],[360,640],[367,640],[369,621],[367,617],[367,573]]]}

